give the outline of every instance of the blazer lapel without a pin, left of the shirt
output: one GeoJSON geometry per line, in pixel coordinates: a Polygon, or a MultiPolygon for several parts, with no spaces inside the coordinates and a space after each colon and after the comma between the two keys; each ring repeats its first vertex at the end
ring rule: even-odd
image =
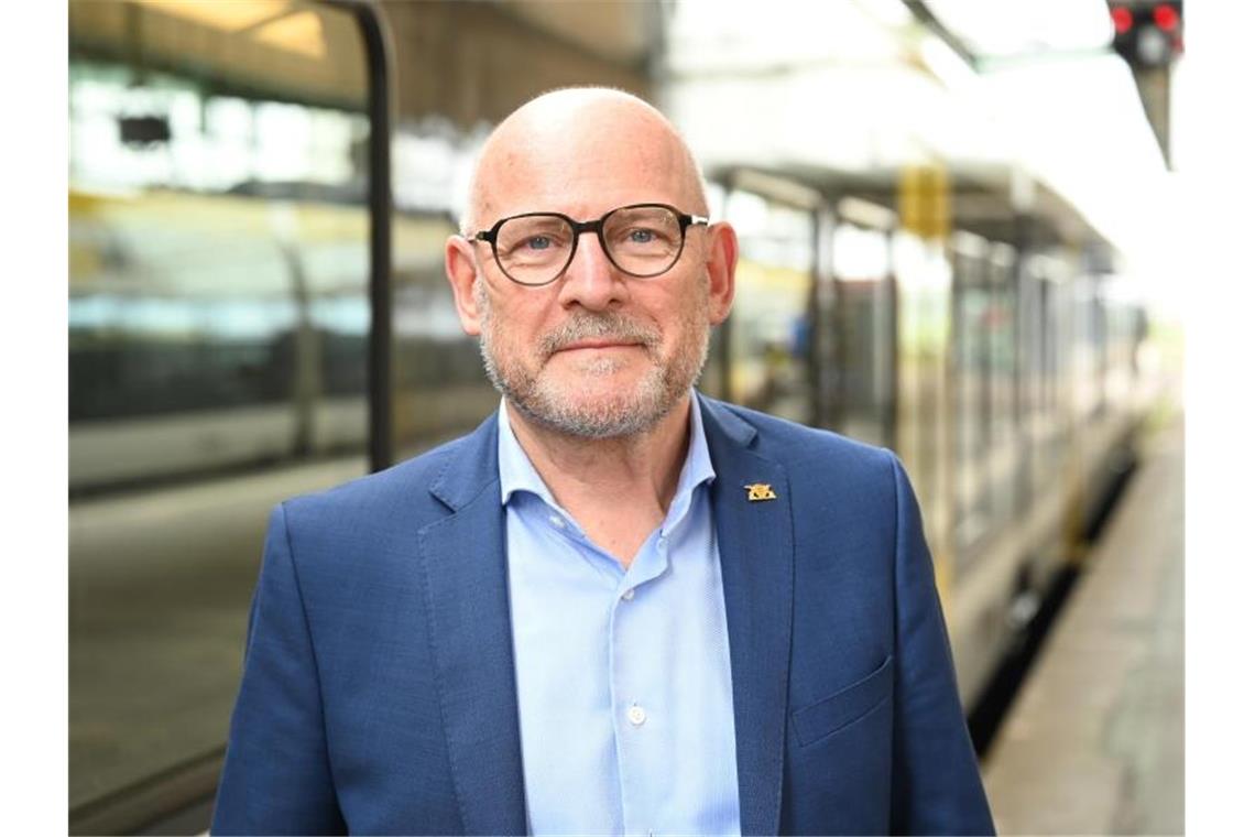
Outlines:
{"type": "Polygon", "coordinates": [[[467,833],[527,831],[496,413],[430,491],[453,513],[419,532],[438,688],[467,833]]]}

